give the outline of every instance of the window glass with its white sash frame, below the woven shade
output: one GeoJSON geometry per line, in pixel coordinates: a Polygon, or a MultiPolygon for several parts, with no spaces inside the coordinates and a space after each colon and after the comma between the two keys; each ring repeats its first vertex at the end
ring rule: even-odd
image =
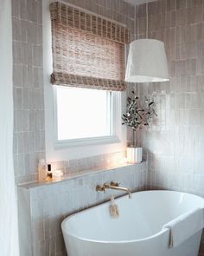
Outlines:
{"type": "Polygon", "coordinates": [[[54,87],[54,148],[121,140],[121,92],[54,87]]]}

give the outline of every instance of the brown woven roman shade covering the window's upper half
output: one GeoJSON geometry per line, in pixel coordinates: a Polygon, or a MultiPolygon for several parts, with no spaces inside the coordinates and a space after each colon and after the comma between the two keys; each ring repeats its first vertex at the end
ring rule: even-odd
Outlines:
{"type": "Polygon", "coordinates": [[[65,3],[50,4],[51,82],[88,89],[124,90],[124,44],[130,31],[65,3]]]}

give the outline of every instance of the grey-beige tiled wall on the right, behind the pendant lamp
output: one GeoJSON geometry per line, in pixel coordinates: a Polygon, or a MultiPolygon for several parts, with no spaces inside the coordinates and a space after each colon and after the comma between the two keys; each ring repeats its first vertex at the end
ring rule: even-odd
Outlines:
{"type": "MultiPolygon", "coordinates": [[[[149,35],[165,43],[170,82],[137,84],[153,97],[157,119],[137,132],[149,160],[149,186],[204,196],[204,2],[188,0],[149,3],[149,35]],[[156,19],[160,23],[156,22],[156,19]]],[[[145,4],[137,8],[137,37],[145,32],[145,4]]]]}

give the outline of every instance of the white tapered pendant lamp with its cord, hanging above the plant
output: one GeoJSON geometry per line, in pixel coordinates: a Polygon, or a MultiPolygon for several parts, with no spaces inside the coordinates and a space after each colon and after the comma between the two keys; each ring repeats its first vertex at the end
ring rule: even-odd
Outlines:
{"type": "Polygon", "coordinates": [[[147,38],[138,39],[130,44],[125,82],[169,81],[164,43],[156,39],[148,39],[148,3],[146,9],[147,38]]]}

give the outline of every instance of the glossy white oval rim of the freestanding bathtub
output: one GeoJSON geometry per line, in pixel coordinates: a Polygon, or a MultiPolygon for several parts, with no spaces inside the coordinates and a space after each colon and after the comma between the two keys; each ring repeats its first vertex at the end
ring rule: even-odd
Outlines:
{"type": "MultiPolygon", "coordinates": [[[[184,192],[179,192],[179,191],[175,191],[175,190],[143,190],[143,191],[136,191],[136,192],[134,192],[134,193],[132,193],[132,194],[141,194],[141,193],[156,193],[156,192],[163,192],[163,193],[170,193],[170,194],[181,194],[181,195],[193,195],[195,198],[199,198],[199,199],[201,199],[201,200],[203,200],[203,207],[201,207],[201,209],[203,209],[204,210],[204,199],[201,197],[201,196],[199,196],[199,195],[196,195],[196,194],[189,194],[189,193],[184,193],[184,192]]],[[[119,199],[122,199],[122,198],[125,198],[125,197],[128,197],[128,195],[127,194],[124,194],[124,195],[121,195],[121,196],[118,196],[117,198],[116,198],[116,200],[119,200],[119,199]]],[[[91,239],[86,239],[86,238],[83,238],[83,237],[80,237],[80,236],[78,236],[78,235],[74,235],[74,234],[72,234],[72,233],[67,233],[67,230],[66,230],[66,227],[65,227],[65,223],[67,222],[67,220],[69,220],[69,219],[72,219],[74,216],[76,216],[76,215],[78,215],[78,214],[80,214],[80,213],[82,213],[82,212],[86,212],[86,211],[89,211],[90,209],[94,209],[94,208],[96,208],[96,207],[99,207],[99,206],[102,206],[102,205],[106,205],[106,204],[108,204],[110,202],[110,200],[108,200],[108,201],[105,201],[105,202],[103,202],[103,203],[101,203],[101,204],[99,204],[99,205],[96,205],[96,206],[93,206],[93,207],[89,207],[89,208],[87,208],[87,209],[85,209],[85,210],[82,210],[82,211],[80,211],[80,212],[78,212],[78,213],[73,213],[73,214],[71,214],[71,215],[69,215],[69,216],[67,216],[64,220],[62,220],[62,222],[61,222],[61,230],[62,230],[62,233],[63,233],[63,236],[64,236],[64,233],[67,235],[67,236],[70,236],[70,237],[72,237],[72,238],[75,238],[75,239],[78,239],[78,240],[83,240],[83,241],[86,241],[86,242],[92,242],[92,243],[100,243],[100,244],[128,244],[128,243],[135,243],[135,242],[143,242],[143,241],[146,241],[146,240],[151,240],[151,239],[154,239],[154,238],[156,238],[156,237],[158,237],[158,236],[160,236],[161,234],[163,234],[163,233],[169,233],[169,228],[162,228],[159,232],[157,232],[157,233],[155,233],[155,234],[153,234],[153,235],[151,235],[151,236],[147,236],[147,237],[145,237],[145,238],[142,238],[142,239],[137,239],[137,240],[116,240],[116,241],[114,241],[114,240],[110,240],[110,241],[104,241],[104,240],[91,240],[91,239]]],[[[188,212],[187,212],[188,213],[188,212]]],[[[181,217],[182,215],[180,215],[180,216],[178,216],[179,218],[181,217]]]]}

